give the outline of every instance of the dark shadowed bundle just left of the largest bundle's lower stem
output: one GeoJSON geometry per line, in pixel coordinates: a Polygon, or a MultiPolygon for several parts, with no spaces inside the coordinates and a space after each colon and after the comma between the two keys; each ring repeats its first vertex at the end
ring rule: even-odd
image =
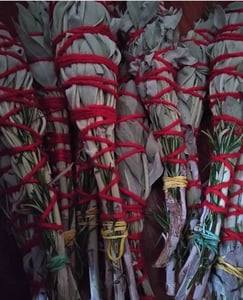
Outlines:
{"type": "MultiPolygon", "coordinates": [[[[79,137],[79,135],[75,135],[79,137]]],[[[75,161],[76,177],[76,276],[85,288],[84,278],[88,275],[90,299],[102,299],[98,242],[98,191],[93,165],[83,149],[81,138],[77,140],[75,161]],[[86,271],[88,269],[88,272],[86,271]]]]}

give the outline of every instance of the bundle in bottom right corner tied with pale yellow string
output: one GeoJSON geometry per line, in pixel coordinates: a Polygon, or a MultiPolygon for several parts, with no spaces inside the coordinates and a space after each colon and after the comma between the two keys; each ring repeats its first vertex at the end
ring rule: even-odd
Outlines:
{"type": "Polygon", "coordinates": [[[230,201],[222,227],[219,257],[209,281],[210,294],[217,298],[241,299],[243,296],[243,154],[235,166],[235,176],[229,188],[230,201]]]}

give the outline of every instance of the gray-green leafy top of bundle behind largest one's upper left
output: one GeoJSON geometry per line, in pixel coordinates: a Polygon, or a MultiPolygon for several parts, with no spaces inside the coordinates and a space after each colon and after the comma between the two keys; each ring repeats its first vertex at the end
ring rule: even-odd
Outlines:
{"type": "Polygon", "coordinates": [[[46,3],[28,2],[28,8],[17,3],[18,24],[15,24],[19,39],[24,46],[27,60],[34,79],[42,86],[56,86],[55,74],[51,49],[51,37],[49,30],[48,10],[46,3]],[[48,61],[36,61],[38,59],[48,61]]]}

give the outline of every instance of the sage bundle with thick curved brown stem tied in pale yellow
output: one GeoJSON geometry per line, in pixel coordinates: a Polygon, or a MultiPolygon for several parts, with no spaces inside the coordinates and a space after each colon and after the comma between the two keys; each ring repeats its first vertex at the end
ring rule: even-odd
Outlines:
{"type": "Polygon", "coordinates": [[[184,135],[177,107],[177,59],[195,63],[186,49],[176,47],[177,25],[181,12],[163,9],[159,2],[128,2],[120,22],[121,31],[128,33],[127,58],[139,96],[148,111],[155,139],[159,144],[165,171],[163,189],[169,214],[169,229],[164,249],[155,266],[166,266],[167,293],[175,293],[175,259],[180,233],[186,219],[184,135]]]}

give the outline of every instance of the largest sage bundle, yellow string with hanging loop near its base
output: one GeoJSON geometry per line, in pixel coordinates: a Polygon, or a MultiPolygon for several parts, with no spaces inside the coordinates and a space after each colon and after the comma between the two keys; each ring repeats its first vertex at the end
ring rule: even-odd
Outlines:
{"type": "Polygon", "coordinates": [[[121,55],[108,28],[109,20],[108,12],[99,2],[58,2],[53,11],[53,44],[72,119],[80,130],[98,186],[101,232],[107,254],[106,297],[124,299],[122,256],[127,224],[114,158],[121,55]]]}

